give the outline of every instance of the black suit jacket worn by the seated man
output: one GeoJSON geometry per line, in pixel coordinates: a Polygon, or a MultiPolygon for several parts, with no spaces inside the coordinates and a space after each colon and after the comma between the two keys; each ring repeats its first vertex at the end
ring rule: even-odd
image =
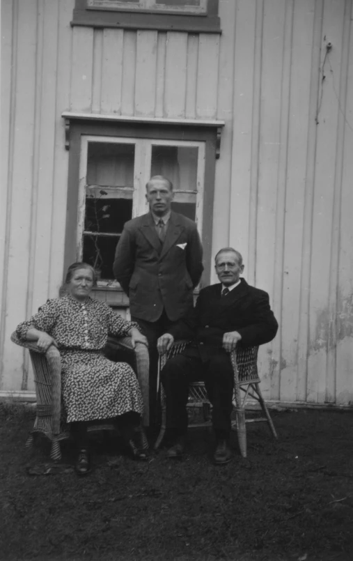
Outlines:
{"type": "Polygon", "coordinates": [[[221,350],[224,333],[237,331],[238,345],[257,346],[272,341],[279,327],[267,292],[244,279],[223,298],[221,289],[220,283],[202,289],[196,307],[168,330],[174,339],[192,339],[203,360],[221,350]]]}

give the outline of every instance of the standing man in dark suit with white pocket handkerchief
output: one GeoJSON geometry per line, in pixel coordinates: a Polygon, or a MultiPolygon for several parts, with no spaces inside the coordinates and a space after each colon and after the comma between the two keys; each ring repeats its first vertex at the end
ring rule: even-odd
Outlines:
{"type": "Polygon", "coordinates": [[[171,210],[173,185],[163,176],[146,185],[150,212],[126,222],[113,272],[130,298],[150,351],[150,425],[156,422],[157,339],[194,305],[203,272],[203,249],[195,222],[171,210]]]}

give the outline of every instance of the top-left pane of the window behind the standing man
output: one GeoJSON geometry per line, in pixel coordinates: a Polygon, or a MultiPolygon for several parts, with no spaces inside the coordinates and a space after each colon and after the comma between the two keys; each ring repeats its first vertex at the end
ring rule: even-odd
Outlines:
{"type": "Polygon", "coordinates": [[[134,187],[134,144],[89,142],[88,185],[134,187]]]}

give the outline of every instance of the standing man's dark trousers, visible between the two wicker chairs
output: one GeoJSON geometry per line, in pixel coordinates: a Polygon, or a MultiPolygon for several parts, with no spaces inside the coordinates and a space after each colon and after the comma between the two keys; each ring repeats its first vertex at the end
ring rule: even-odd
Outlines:
{"type": "Polygon", "coordinates": [[[157,426],[157,369],[158,369],[158,352],[157,339],[168,332],[176,322],[171,321],[166,312],[163,310],[162,316],[157,321],[146,321],[143,319],[132,317],[131,321],[139,324],[141,332],[148,340],[148,353],[150,355],[150,427],[157,426]]]}

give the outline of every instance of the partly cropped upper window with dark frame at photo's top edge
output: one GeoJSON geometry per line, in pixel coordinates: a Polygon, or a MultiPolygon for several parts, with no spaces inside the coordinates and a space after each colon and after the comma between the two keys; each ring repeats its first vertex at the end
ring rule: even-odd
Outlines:
{"type": "Polygon", "coordinates": [[[75,0],[72,25],[220,33],[219,0],[75,0]]]}

